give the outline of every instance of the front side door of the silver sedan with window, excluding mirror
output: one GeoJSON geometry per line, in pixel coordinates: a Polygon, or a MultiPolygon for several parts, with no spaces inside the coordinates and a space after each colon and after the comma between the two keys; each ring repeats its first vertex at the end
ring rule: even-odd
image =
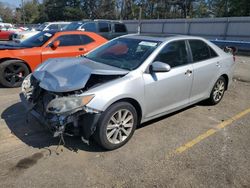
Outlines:
{"type": "Polygon", "coordinates": [[[154,61],[169,64],[171,70],[143,74],[146,118],[187,105],[193,80],[192,65],[189,64],[185,40],[168,43],[154,61]]]}

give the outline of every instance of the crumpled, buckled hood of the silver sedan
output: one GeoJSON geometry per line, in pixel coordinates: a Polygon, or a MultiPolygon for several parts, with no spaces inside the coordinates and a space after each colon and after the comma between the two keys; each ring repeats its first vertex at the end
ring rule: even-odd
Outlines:
{"type": "Polygon", "coordinates": [[[125,75],[128,71],[91,61],[87,58],[49,59],[33,73],[39,86],[52,92],[69,92],[84,88],[91,74],[125,75]]]}

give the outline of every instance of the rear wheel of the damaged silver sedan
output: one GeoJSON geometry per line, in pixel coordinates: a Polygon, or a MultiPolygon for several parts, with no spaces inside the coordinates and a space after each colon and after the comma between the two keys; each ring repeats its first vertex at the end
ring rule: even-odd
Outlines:
{"type": "Polygon", "coordinates": [[[208,99],[208,103],[211,105],[218,104],[224,96],[226,90],[226,80],[223,76],[221,76],[214,84],[214,87],[210,93],[210,97],[208,99]],[[222,85],[223,87],[222,87],[222,85]],[[221,86],[220,92],[218,92],[218,86],[221,86]]]}

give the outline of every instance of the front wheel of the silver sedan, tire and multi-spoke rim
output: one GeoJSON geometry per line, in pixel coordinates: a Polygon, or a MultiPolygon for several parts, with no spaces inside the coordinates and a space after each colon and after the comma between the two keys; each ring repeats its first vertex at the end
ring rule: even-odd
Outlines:
{"type": "Polygon", "coordinates": [[[132,137],[137,123],[137,112],[133,105],[127,102],[115,103],[102,114],[95,139],[105,149],[119,148],[132,137]]]}

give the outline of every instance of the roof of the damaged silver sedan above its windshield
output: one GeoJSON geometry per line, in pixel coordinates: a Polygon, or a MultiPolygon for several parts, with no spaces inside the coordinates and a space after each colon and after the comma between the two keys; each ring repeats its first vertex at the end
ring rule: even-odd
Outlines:
{"type": "Polygon", "coordinates": [[[129,34],[122,37],[141,39],[141,40],[153,40],[159,42],[165,42],[170,39],[202,39],[201,37],[189,36],[189,35],[177,35],[177,34],[129,34]]]}

